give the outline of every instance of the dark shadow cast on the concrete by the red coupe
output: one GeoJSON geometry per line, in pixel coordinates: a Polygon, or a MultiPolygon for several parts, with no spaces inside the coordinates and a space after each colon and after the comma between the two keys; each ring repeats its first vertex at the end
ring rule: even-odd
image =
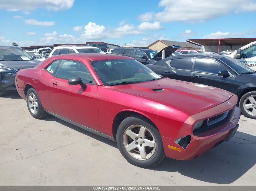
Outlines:
{"type": "MultiPolygon", "coordinates": [[[[42,120],[56,121],[117,148],[115,142],[85,131],[54,116],[49,115],[42,120]]],[[[230,184],[256,164],[255,150],[256,137],[238,131],[230,141],[223,142],[193,160],[178,161],[165,158],[160,164],[150,170],[179,172],[184,176],[204,182],[230,184]]]]}

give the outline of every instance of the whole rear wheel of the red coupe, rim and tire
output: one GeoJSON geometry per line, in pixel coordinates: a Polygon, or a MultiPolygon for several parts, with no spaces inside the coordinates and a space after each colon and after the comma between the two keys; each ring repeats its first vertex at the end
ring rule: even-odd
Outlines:
{"type": "Polygon", "coordinates": [[[42,107],[37,91],[34,88],[28,89],[27,106],[29,113],[36,119],[40,119],[48,115],[42,107]]]}

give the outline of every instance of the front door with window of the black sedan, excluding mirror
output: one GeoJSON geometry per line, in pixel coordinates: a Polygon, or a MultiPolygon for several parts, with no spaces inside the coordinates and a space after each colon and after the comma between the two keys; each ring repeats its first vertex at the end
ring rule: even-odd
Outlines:
{"type": "Polygon", "coordinates": [[[234,92],[235,75],[228,68],[213,59],[194,58],[191,79],[194,83],[234,92]],[[228,70],[230,76],[218,75],[218,72],[221,70],[228,70]]]}

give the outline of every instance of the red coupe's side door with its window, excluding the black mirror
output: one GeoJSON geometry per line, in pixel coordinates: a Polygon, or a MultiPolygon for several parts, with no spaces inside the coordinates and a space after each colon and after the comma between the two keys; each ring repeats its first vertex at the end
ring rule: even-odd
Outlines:
{"type": "MultiPolygon", "coordinates": [[[[50,67],[50,66],[49,66],[50,67]]],[[[99,131],[98,87],[86,66],[77,61],[59,60],[49,83],[49,95],[55,114],[99,131]],[[80,77],[87,88],[69,85],[68,79],[80,77]]]]}

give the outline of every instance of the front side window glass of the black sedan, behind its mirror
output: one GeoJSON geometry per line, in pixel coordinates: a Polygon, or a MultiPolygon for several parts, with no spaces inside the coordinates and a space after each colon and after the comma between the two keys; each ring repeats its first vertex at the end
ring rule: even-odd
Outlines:
{"type": "Polygon", "coordinates": [[[225,70],[219,63],[211,59],[195,59],[195,71],[205,72],[210,74],[217,74],[221,70],[225,70]]]}

